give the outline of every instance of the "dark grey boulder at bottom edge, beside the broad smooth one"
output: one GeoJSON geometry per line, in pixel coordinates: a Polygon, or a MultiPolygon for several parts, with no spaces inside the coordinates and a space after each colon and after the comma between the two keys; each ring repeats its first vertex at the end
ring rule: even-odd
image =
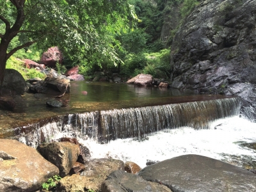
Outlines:
{"type": "Polygon", "coordinates": [[[101,186],[102,192],[172,192],[171,189],[156,182],[143,180],[140,176],[117,170],[111,173],[101,186]]]}

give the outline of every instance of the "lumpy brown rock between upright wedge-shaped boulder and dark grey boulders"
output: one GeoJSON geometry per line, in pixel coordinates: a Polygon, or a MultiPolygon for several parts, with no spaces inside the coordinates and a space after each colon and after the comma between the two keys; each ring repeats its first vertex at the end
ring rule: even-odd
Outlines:
{"type": "Polygon", "coordinates": [[[93,159],[84,164],[85,170],[80,175],[71,175],[60,180],[57,191],[100,191],[102,182],[116,170],[124,170],[124,162],[117,159],[93,159]]]}

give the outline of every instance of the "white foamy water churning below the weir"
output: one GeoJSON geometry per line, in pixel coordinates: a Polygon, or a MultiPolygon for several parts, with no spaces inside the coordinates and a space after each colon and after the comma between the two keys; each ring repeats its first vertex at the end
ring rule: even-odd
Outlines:
{"type": "MultiPolygon", "coordinates": [[[[58,135],[57,138],[62,136],[58,135]]],[[[198,154],[214,159],[224,159],[221,154],[230,154],[250,156],[256,161],[254,150],[237,144],[239,141],[256,142],[256,124],[239,116],[218,120],[212,123],[211,129],[181,127],[157,132],[144,141],[135,141],[132,138],[119,139],[108,144],[81,138],[78,141],[90,149],[92,158],[111,157],[124,162],[133,161],[141,168],[146,166],[147,159],[163,161],[184,154],[198,154]]]]}

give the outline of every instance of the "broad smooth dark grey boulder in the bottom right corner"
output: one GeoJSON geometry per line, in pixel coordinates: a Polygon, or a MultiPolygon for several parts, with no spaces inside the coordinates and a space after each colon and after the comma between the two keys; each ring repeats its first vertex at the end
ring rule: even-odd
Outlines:
{"type": "Polygon", "coordinates": [[[143,179],[162,183],[176,192],[256,191],[252,172],[209,157],[186,155],[147,166],[143,179]]]}

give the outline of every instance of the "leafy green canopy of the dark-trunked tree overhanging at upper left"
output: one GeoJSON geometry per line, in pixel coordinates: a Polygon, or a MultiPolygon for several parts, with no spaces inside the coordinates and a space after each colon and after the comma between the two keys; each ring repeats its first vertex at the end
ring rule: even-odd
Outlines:
{"type": "Polygon", "coordinates": [[[0,83],[6,60],[24,47],[58,46],[70,58],[119,60],[109,33],[137,19],[127,0],[0,0],[0,83]],[[109,28],[111,26],[111,28],[109,28]],[[13,45],[15,38],[19,44],[13,45]]]}

